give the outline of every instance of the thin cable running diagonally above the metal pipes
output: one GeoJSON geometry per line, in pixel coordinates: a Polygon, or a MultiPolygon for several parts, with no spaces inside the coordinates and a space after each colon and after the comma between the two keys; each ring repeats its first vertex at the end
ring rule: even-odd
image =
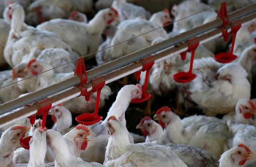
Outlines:
{"type": "MultiPolygon", "coordinates": [[[[172,24],[173,24],[173,23],[175,23],[175,22],[178,22],[178,21],[184,20],[184,19],[189,18],[189,17],[191,17],[191,16],[194,16],[194,15],[196,15],[196,14],[198,14],[198,13],[208,11],[209,9],[212,9],[212,8],[213,8],[213,7],[210,7],[210,8],[204,9],[203,11],[200,11],[200,12],[194,13],[194,14],[189,15],[189,16],[186,16],[186,17],[184,17],[184,18],[182,18],[182,19],[179,19],[179,20],[176,20],[176,21],[172,21],[172,22],[168,23],[168,24],[167,24],[167,25],[165,25],[165,26],[161,26],[161,27],[158,27],[158,28],[152,29],[152,30],[150,30],[150,31],[148,31],[148,32],[146,32],[146,33],[143,33],[143,34],[140,34],[140,35],[134,36],[134,37],[132,37],[132,38],[130,38],[130,39],[128,39],[128,40],[122,41],[122,42],[120,42],[120,43],[114,44],[114,45],[109,46],[109,47],[107,47],[107,48],[104,48],[104,49],[102,49],[102,50],[98,50],[98,51],[96,51],[96,52],[94,52],[94,53],[90,53],[90,54],[88,54],[88,55],[81,56],[81,57],[85,58],[85,57],[91,56],[91,55],[96,54],[96,53],[98,53],[98,52],[100,52],[100,51],[103,51],[103,50],[106,50],[106,49],[112,48],[112,47],[114,47],[114,46],[117,46],[117,45],[119,45],[119,44],[121,44],[121,43],[124,43],[124,42],[130,41],[130,40],[133,40],[133,39],[135,39],[135,38],[137,38],[137,37],[139,37],[139,36],[142,36],[142,35],[148,34],[148,33],[150,33],[150,32],[153,32],[153,31],[157,30],[157,29],[160,29],[160,28],[166,27],[166,26],[168,26],[168,25],[172,25],[172,24]]],[[[124,55],[124,56],[125,56],[125,55],[124,55]]],[[[5,88],[5,87],[10,86],[10,85],[13,85],[13,84],[15,84],[15,83],[18,83],[18,82],[24,81],[24,80],[26,80],[26,79],[32,78],[32,77],[37,76],[37,75],[39,75],[39,74],[42,74],[42,73],[44,73],[44,72],[47,72],[47,71],[50,71],[50,70],[53,70],[53,69],[56,69],[56,68],[62,67],[63,65],[66,65],[66,64],[69,64],[69,63],[72,63],[72,62],[75,62],[75,61],[77,61],[77,59],[76,59],[76,60],[72,60],[72,61],[67,62],[67,63],[64,63],[64,64],[62,64],[62,65],[58,65],[58,66],[53,67],[53,68],[51,68],[51,69],[49,69],[49,70],[45,70],[45,71],[43,71],[43,72],[39,72],[39,73],[38,73],[38,74],[36,74],[36,75],[32,75],[32,76],[30,76],[30,77],[27,77],[27,78],[21,79],[21,80],[19,80],[19,81],[13,82],[13,83],[11,83],[11,84],[8,84],[8,85],[5,85],[5,86],[2,86],[2,87],[0,87],[0,89],[5,88]]]]}

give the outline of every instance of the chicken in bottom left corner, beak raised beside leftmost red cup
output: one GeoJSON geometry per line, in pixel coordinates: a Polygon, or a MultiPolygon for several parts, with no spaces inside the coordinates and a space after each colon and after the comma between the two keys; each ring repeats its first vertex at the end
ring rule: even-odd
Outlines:
{"type": "Polygon", "coordinates": [[[0,164],[8,167],[13,164],[13,154],[19,140],[30,129],[30,126],[14,125],[9,127],[0,139],[0,164]]]}

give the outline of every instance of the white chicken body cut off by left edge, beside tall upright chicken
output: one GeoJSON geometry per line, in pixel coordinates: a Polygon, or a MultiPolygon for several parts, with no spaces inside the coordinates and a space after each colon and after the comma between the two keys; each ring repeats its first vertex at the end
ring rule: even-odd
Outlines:
{"type": "Polygon", "coordinates": [[[11,29],[11,25],[9,23],[7,23],[6,21],[4,21],[3,19],[0,19],[0,29],[1,29],[1,32],[0,32],[0,67],[1,67],[2,65],[6,64],[3,53],[4,53],[6,41],[8,39],[8,34],[11,29]]]}

